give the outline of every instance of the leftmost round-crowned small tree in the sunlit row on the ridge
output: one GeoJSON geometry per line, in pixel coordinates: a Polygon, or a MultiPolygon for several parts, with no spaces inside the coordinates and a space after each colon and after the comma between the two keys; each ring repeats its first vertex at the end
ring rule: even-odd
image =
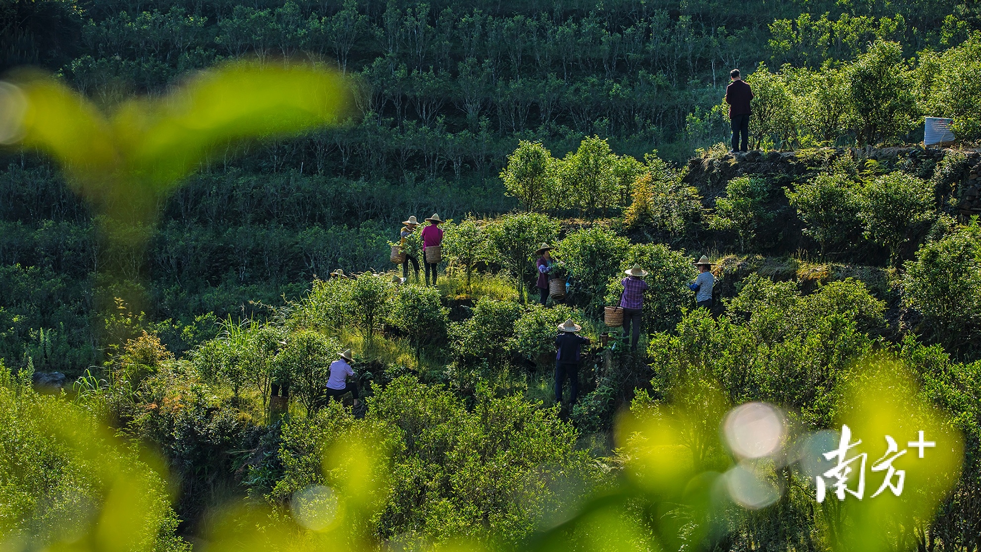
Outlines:
{"type": "Polygon", "coordinates": [[[555,176],[555,159],[542,142],[521,140],[517,149],[507,156],[507,165],[500,172],[507,195],[518,198],[525,211],[532,212],[545,205],[555,176]]]}

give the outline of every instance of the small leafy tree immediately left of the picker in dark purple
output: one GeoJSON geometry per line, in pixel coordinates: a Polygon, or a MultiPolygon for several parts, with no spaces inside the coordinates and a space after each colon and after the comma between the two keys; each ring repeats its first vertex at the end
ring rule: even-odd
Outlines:
{"type": "Polygon", "coordinates": [[[532,272],[532,256],[542,242],[555,240],[558,221],[538,213],[505,215],[488,225],[487,232],[492,247],[489,260],[500,263],[523,289],[526,276],[532,272]]]}

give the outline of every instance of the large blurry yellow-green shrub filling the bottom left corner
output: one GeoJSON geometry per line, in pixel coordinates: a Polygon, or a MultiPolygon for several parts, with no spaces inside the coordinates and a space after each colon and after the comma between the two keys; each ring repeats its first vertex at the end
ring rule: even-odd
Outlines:
{"type": "Polygon", "coordinates": [[[68,549],[88,537],[106,548],[188,552],[167,481],[147,458],[76,405],[35,393],[24,376],[0,364],[5,548],[68,549]]]}

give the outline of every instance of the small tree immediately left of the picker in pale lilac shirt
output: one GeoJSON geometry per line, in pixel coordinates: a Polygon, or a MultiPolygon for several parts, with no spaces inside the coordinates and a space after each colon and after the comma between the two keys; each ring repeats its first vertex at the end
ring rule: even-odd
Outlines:
{"type": "Polygon", "coordinates": [[[301,329],[286,336],[283,351],[277,356],[278,368],[289,376],[290,388],[312,414],[324,394],[331,363],[340,353],[336,339],[317,331],[301,329]]]}

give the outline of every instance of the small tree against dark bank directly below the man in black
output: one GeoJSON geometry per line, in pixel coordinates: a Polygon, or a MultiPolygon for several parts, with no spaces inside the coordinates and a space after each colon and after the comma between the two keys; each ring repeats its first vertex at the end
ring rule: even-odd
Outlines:
{"type": "Polygon", "coordinates": [[[773,219],[775,213],[766,209],[772,186],[769,180],[755,176],[740,176],[726,184],[726,197],[715,201],[715,214],[708,217],[713,230],[735,230],[739,234],[740,250],[756,237],[756,229],[773,219]]]}

